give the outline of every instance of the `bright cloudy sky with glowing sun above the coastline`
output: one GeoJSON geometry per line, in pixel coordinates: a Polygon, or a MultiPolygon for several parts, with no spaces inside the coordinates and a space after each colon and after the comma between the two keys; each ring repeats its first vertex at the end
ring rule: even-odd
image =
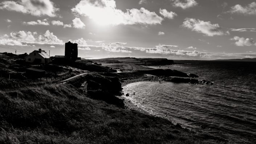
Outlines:
{"type": "Polygon", "coordinates": [[[256,58],[255,18],[256,0],[0,0],[0,52],[256,58]]]}

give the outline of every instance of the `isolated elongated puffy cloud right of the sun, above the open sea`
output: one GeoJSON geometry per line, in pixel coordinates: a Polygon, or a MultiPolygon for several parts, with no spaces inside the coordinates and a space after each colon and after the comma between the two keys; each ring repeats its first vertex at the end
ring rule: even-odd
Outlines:
{"type": "Polygon", "coordinates": [[[222,36],[229,35],[229,32],[223,32],[219,24],[211,24],[210,21],[196,20],[195,18],[185,18],[182,26],[198,33],[206,34],[206,36],[222,36]]]}

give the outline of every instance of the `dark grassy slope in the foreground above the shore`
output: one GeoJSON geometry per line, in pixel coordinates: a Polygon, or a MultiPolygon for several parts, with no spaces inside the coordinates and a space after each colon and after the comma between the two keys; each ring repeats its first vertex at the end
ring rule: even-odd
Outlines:
{"type": "Polygon", "coordinates": [[[224,143],[84,96],[70,84],[0,91],[0,144],[224,143]]]}

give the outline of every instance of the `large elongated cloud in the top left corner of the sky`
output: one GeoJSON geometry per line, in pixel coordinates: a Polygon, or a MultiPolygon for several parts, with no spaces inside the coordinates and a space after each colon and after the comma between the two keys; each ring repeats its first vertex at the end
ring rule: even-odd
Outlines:
{"type": "Polygon", "coordinates": [[[59,10],[54,7],[54,3],[50,0],[18,0],[3,1],[0,3],[0,9],[8,11],[16,11],[33,16],[49,16],[55,17],[59,10]]]}

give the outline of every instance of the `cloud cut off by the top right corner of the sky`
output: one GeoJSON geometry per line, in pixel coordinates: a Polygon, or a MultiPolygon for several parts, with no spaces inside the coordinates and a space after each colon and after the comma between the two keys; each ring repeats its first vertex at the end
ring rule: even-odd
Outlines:
{"type": "Polygon", "coordinates": [[[245,7],[241,6],[240,4],[237,4],[231,7],[231,10],[228,12],[243,14],[243,15],[256,15],[256,3],[252,2],[251,4],[248,4],[245,7]]]}

